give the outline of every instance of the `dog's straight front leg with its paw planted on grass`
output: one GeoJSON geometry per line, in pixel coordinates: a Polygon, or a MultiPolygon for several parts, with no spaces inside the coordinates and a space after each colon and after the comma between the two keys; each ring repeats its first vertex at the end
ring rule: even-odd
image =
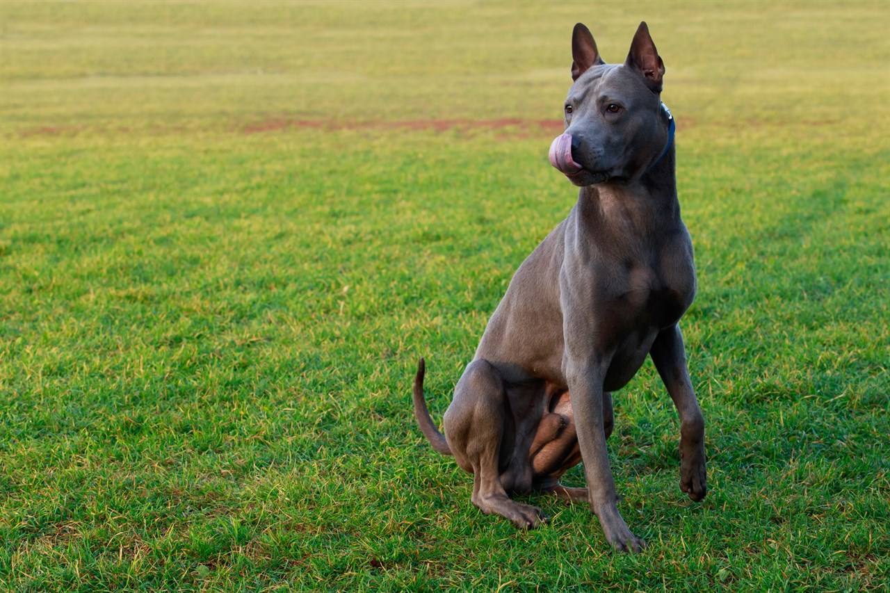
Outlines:
{"type": "Polygon", "coordinates": [[[581,459],[584,460],[590,509],[599,518],[606,540],[614,548],[623,552],[639,552],[646,542],[630,532],[619,513],[618,494],[609,466],[603,428],[602,365],[572,359],[567,353],[563,367],[569,384],[581,459]]]}

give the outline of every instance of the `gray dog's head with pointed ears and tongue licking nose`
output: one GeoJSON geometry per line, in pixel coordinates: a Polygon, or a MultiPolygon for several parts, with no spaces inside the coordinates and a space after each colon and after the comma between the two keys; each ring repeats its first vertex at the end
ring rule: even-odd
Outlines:
{"type": "Polygon", "coordinates": [[[665,73],[646,23],[640,23],[623,64],[607,64],[594,36],[578,23],[571,36],[571,77],[565,133],[550,147],[550,162],[571,183],[626,183],[665,154],[670,112],[661,104],[665,73]]]}

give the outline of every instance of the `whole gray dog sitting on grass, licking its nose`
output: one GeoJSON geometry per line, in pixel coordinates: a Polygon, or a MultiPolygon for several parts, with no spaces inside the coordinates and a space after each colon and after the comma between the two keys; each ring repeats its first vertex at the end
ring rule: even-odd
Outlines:
{"type": "Polygon", "coordinates": [[[433,449],[473,474],[473,504],[522,528],[546,521],[512,493],[584,500],[606,538],[640,551],[618,510],[606,439],[611,392],[652,357],[680,416],[680,488],[707,491],[705,422],[677,321],[695,296],[692,241],[676,196],[674,120],[660,101],[664,63],[649,28],[624,64],[606,64],[578,23],[571,38],[565,133],[550,162],[580,187],[568,218],[516,271],[445,412],[446,439],[414,382],[417,423],[433,449]],[[584,461],[587,488],[559,482],[584,461]]]}

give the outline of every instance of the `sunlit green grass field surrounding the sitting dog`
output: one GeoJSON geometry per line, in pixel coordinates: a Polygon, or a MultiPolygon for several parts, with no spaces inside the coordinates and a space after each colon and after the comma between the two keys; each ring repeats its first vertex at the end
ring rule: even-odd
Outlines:
{"type": "MultiPolygon", "coordinates": [[[[0,588],[886,591],[890,7],[0,3],[0,588]],[[427,445],[515,268],[578,20],[647,20],[699,294],[708,498],[647,362],[583,506],[427,445]]],[[[577,467],[568,483],[582,485],[577,467]]]]}

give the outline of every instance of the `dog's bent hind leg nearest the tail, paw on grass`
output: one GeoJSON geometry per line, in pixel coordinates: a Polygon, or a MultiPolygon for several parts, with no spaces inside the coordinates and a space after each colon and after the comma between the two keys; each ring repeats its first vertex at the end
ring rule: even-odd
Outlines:
{"type": "Polygon", "coordinates": [[[546,521],[537,507],[511,500],[501,482],[514,447],[514,421],[504,381],[489,361],[471,362],[444,418],[457,464],[473,474],[473,505],[523,529],[546,521]]]}

